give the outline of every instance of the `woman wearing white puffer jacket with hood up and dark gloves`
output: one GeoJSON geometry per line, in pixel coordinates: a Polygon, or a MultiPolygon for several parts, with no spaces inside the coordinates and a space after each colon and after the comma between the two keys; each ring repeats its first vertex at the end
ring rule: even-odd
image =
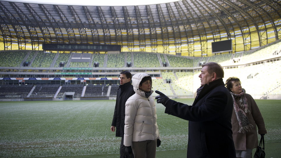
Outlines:
{"type": "Polygon", "coordinates": [[[145,73],[132,77],[135,94],[125,104],[124,145],[127,155],[155,158],[160,146],[156,106],[151,94],[152,79],[145,73]]]}

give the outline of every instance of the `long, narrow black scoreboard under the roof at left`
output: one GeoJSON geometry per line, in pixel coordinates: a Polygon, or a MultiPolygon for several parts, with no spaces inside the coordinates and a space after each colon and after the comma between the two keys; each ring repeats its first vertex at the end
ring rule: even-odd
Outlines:
{"type": "Polygon", "coordinates": [[[121,51],[121,45],[103,44],[43,44],[47,51],[121,51]]]}

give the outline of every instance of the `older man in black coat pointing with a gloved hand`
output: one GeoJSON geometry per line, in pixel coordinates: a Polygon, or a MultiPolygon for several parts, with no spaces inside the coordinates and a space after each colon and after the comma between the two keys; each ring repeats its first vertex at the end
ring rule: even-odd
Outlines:
{"type": "Polygon", "coordinates": [[[192,106],[169,99],[159,91],[157,103],[165,113],[189,120],[188,158],[235,158],[231,115],[233,100],[224,87],[224,71],[218,63],[202,65],[201,87],[192,106]]]}

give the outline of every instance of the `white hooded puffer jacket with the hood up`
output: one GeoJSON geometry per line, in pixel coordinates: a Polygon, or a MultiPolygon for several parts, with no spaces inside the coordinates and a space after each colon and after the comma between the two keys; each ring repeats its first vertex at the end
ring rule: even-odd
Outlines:
{"type": "MultiPolygon", "coordinates": [[[[125,104],[125,146],[131,146],[132,142],[160,138],[154,99],[151,95],[147,98],[145,93],[139,89],[140,81],[147,76],[149,75],[138,73],[132,77],[132,85],[136,93],[129,97],[125,104]]],[[[150,84],[152,85],[151,78],[150,84]]],[[[151,93],[153,93],[152,90],[151,93]]]]}

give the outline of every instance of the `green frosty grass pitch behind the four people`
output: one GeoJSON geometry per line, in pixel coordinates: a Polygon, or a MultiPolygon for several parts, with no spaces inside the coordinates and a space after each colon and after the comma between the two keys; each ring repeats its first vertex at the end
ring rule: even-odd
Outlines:
{"type": "MultiPolygon", "coordinates": [[[[176,99],[192,104],[194,99],[176,99]]],[[[256,100],[266,123],[266,157],[281,155],[281,100],[256,100]]],[[[0,157],[119,157],[110,131],[115,100],[0,102],[0,157]]],[[[157,157],[186,157],[188,121],[157,106],[157,157]]],[[[254,149],[255,151],[255,149],[254,149]]]]}

